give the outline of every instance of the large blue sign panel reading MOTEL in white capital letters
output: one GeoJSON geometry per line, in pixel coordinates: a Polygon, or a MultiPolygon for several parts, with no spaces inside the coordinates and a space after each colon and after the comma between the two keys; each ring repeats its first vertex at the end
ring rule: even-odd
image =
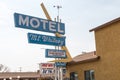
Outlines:
{"type": "Polygon", "coordinates": [[[65,34],[65,24],[51,20],[14,13],[15,26],[50,33],[65,34]]]}

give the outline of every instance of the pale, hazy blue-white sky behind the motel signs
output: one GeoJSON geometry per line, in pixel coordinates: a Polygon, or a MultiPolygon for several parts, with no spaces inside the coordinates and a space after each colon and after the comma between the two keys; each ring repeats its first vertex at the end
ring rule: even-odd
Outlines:
{"type": "Polygon", "coordinates": [[[27,33],[53,35],[41,31],[16,28],[15,12],[46,19],[40,4],[44,3],[52,20],[57,16],[65,23],[66,46],[72,57],[95,50],[94,33],[90,29],[120,17],[120,0],[1,0],[0,64],[11,71],[36,71],[38,64],[49,61],[45,49],[54,46],[29,44],[27,33]]]}

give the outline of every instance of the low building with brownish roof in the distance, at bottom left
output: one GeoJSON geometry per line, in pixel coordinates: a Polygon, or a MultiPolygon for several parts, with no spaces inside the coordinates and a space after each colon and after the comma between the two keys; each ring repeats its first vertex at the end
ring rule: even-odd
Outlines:
{"type": "Polygon", "coordinates": [[[2,72],[0,80],[39,80],[38,72],[2,72]]]}

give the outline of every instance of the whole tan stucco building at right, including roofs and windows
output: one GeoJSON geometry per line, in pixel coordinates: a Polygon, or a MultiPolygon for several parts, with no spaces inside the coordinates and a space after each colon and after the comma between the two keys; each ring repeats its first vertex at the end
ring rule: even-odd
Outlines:
{"type": "Polygon", "coordinates": [[[71,80],[120,80],[120,18],[94,29],[96,51],[78,55],[67,64],[71,80]]]}

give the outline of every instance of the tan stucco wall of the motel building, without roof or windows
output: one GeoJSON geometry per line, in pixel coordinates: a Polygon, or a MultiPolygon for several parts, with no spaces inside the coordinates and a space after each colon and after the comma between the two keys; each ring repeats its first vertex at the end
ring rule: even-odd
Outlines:
{"type": "Polygon", "coordinates": [[[68,66],[84,79],[85,70],[95,71],[95,80],[120,80],[120,22],[95,31],[96,53],[100,60],[68,66]]]}

